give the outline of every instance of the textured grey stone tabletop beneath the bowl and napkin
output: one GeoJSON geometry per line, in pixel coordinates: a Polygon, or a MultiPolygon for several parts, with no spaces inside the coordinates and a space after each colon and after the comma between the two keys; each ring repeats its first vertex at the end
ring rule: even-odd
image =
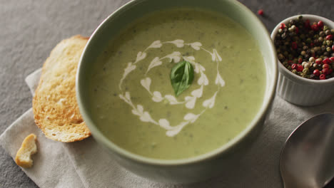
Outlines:
{"type": "MultiPolygon", "coordinates": [[[[0,0],[0,134],[31,108],[24,78],[40,68],[61,39],[89,36],[103,19],[128,0],[53,1],[0,0]]],[[[333,0],[242,0],[270,32],[295,14],[316,14],[334,20],[333,0]]],[[[0,147],[0,187],[37,187],[0,147]]]]}

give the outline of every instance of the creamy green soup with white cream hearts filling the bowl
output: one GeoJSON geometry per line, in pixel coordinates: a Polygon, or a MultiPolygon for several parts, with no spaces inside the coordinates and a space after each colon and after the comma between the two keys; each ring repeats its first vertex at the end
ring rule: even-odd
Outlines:
{"type": "Polygon", "coordinates": [[[119,147],[176,160],[217,149],[253,120],[265,92],[257,42],[241,25],[201,9],[147,14],[113,38],[90,72],[93,122],[119,147]],[[176,96],[171,70],[193,67],[176,96]]]}

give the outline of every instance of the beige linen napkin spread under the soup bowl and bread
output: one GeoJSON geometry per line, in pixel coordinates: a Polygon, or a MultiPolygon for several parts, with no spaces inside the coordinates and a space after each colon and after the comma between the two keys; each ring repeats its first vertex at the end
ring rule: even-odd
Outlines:
{"type": "MultiPolygon", "coordinates": [[[[34,93],[40,70],[26,78],[34,93]]],[[[39,152],[34,166],[23,169],[39,187],[283,187],[278,162],[285,139],[295,127],[318,113],[334,113],[334,99],[323,105],[302,108],[275,97],[263,130],[246,151],[238,166],[226,166],[216,178],[195,184],[160,184],[138,177],[118,166],[111,155],[93,137],[73,143],[49,140],[34,123],[32,110],[13,122],[0,136],[0,144],[15,157],[26,135],[34,132],[39,152]]]]}

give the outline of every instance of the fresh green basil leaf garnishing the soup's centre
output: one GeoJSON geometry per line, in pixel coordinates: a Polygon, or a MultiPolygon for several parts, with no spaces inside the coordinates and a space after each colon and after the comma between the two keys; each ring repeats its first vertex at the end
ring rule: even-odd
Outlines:
{"type": "Polygon", "coordinates": [[[193,66],[188,61],[181,61],[171,70],[171,85],[175,95],[180,95],[193,82],[193,66]]]}

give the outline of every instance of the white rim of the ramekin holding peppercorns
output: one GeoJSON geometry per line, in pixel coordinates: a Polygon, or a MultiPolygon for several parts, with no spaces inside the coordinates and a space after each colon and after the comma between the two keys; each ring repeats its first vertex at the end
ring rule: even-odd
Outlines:
{"type": "MultiPolygon", "coordinates": [[[[275,36],[278,33],[278,29],[280,28],[280,24],[281,23],[288,23],[288,21],[290,21],[291,19],[298,19],[299,16],[303,16],[303,19],[309,19],[310,21],[323,21],[323,23],[325,23],[326,25],[329,25],[331,28],[334,28],[334,22],[331,21],[330,19],[326,19],[325,17],[322,16],[317,16],[317,15],[313,15],[313,14],[298,14],[295,16],[290,16],[286,19],[284,19],[283,21],[280,21],[275,28],[273,28],[273,31],[270,34],[270,38],[275,41],[275,36]]],[[[288,71],[288,68],[285,68],[285,66],[283,66],[283,64],[280,62],[280,60],[278,60],[277,58],[277,62],[278,62],[278,71],[280,71],[280,73],[282,73],[283,75],[285,75],[286,77],[290,78],[290,80],[294,80],[295,82],[298,83],[302,83],[305,85],[333,85],[334,83],[334,78],[330,78],[330,79],[326,79],[326,80],[312,80],[312,79],[308,79],[308,78],[303,78],[299,75],[295,75],[294,73],[292,73],[291,71],[288,71]]]]}

